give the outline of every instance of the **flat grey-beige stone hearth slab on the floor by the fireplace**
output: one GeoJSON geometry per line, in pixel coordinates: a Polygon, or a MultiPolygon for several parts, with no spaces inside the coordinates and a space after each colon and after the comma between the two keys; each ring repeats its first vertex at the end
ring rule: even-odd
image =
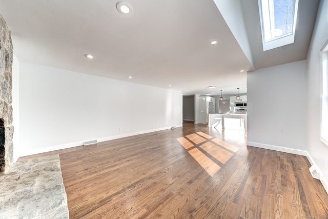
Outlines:
{"type": "Polygon", "coordinates": [[[69,218],[58,154],[18,161],[0,182],[0,218],[69,218]]]}

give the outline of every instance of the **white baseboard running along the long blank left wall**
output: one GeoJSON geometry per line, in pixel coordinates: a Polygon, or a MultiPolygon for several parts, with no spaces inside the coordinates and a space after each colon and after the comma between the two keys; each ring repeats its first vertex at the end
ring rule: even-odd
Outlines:
{"type": "MultiPolygon", "coordinates": [[[[102,138],[98,138],[97,141],[98,141],[98,143],[106,142],[106,141],[110,141],[110,140],[114,140],[114,139],[122,138],[122,137],[130,137],[130,136],[134,136],[134,135],[138,135],[138,134],[146,134],[146,133],[155,132],[155,131],[167,130],[167,129],[171,129],[171,127],[172,126],[158,128],[158,129],[150,129],[150,130],[139,131],[139,132],[126,133],[126,134],[121,134],[121,135],[114,135],[114,136],[109,136],[109,137],[102,137],[102,138]]],[[[182,124],[175,125],[175,127],[176,128],[182,127],[182,124]]],[[[96,138],[94,138],[94,139],[96,139],[96,138]]],[[[46,153],[46,152],[50,152],[50,151],[56,151],[56,150],[61,150],[61,149],[73,148],[73,147],[77,147],[77,146],[83,146],[84,141],[63,144],[63,145],[55,145],[55,146],[46,147],[46,148],[29,149],[29,150],[21,151],[17,157],[29,156],[29,155],[39,154],[39,153],[46,153]]]]}

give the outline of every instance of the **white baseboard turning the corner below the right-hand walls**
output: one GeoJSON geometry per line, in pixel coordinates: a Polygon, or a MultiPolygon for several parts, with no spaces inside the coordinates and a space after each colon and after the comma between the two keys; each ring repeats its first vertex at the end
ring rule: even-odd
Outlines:
{"type": "Polygon", "coordinates": [[[280,152],[285,152],[285,153],[292,153],[292,154],[306,156],[306,158],[308,158],[310,164],[314,165],[317,172],[319,172],[320,182],[321,182],[322,186],[324,187],[324,189],[326,190],[326,192],[328,193],[328,181],[323,176],[323,174],[321,174],[322,173],[321,170],[318,168],[318,166],[316,165],[316,163],[314,162],[313,158],[311,157],[311,155],[309,154],[308,151],[294,149],[294,148],[274,146],[274,145],[259,144],[259,143],[255,143],[255,142],[247,142],[247,145],[252,146],[252,147],[257,147],[257,148],[264,148],[264,149],[269,149],[269,150],[274,150],[274,151],[280,151],[280,152]]]}

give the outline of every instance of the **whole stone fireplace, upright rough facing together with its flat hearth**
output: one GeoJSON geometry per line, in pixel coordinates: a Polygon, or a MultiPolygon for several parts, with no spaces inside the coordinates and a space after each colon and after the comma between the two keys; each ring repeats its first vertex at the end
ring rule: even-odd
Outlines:
{"type": "Polygon", "coordinates": [[[59,155],[13,164],[12,62],[11,32],[0,14],[0,217],[68,219],[59,155]]]}

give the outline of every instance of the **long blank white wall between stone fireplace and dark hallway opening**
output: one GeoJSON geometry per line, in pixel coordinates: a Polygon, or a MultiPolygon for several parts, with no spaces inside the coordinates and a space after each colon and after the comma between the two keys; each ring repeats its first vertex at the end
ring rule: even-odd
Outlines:
{"type": "Polygon", "coordinates": [[[182,125],[182,93],[19,65],[20,156],[182,125]]]}

